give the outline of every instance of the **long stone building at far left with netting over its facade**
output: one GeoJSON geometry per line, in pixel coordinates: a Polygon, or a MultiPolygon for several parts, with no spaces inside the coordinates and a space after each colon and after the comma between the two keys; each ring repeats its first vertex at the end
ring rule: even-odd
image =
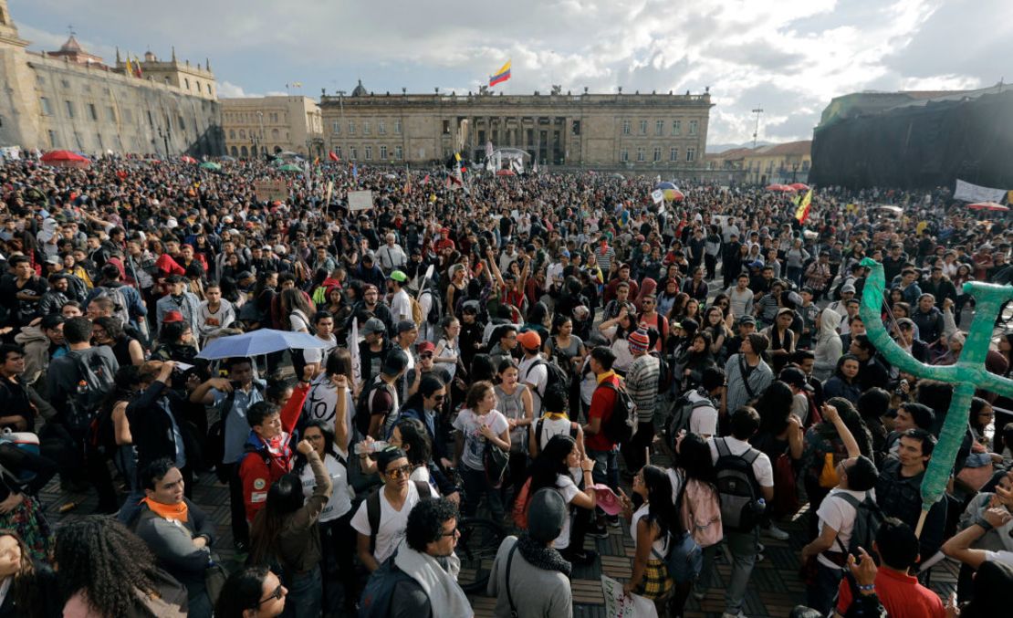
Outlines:
{"type": "Polygon", "coordinates": [[[160,156],[222,154],[218,86],[210,63],[122,59],[114,66],[72,34],[35,53],[0,0],[0,146],[160,156]]]}

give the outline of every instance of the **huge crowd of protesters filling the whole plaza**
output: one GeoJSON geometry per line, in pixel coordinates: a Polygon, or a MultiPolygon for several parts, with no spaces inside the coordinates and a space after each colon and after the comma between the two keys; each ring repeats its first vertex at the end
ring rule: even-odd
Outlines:
{"type": "MultiPolygon", "coordinates": [[[[1013,402],[977,393],[923,506],[953,385],[891,367],[858,310],[870,257],[877,326],[956,363],[963,284],[1011,279],[1009,221],[827,187],[799,223],[786,194],[656,204],[656,180],[4,161],[0,617],[470,617],[455,546],[480,517],[508,531],[496,616],[571,616],[586,539],[626,527],[624,595],[682,616],[724,560],[735,618],[805,505],[793,616],[1009,615],[1013,402]],[[260,329],[316,346],[201,355],[260,329]],[[209,475],[238,563],[190,499],[209,475]],[[96,513],[51,526],[51,482],[96,513]],[[953,599],[926,587],[940,560],[953,599]]],[[[1010,377],[1004,328],[987,367],[1010,377]]]]}

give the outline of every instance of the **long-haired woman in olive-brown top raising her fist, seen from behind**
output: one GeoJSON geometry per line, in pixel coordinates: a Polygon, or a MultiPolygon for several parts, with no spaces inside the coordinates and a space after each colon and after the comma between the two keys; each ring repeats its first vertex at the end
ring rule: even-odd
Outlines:
{"type": "Polygon", "coordinates": [[[313,493],[303,495],[303,483],[286,474],[267,489],[267,503],[250,528],[251,564],[276,564],[286,573],[289,603],[296,616],[317,616],[322,606],[320,531],[318,521],[330,497],[331,482],[313,445],[302,440],[296,450],[313,471],[313,493]]]}

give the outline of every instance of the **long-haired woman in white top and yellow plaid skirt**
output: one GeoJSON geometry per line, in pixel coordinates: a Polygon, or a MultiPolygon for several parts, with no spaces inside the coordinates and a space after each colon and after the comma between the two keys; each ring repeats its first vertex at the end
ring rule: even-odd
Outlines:
{"type": "Polygon", "coordinates": [[[623,517],[630,523],[630,536],[635,544],[633,572],[623,592],[650,599],[658,615],[666,615],[665,605],[675,581],[665,557],[673,546],[670,535],[678,538],[685,530],[672,497],[672,481],[664,469],[652,465],[641,468],[633,476],[633,493],[641,500],[635,510],[633,501],[622,494],[623,517]]]}

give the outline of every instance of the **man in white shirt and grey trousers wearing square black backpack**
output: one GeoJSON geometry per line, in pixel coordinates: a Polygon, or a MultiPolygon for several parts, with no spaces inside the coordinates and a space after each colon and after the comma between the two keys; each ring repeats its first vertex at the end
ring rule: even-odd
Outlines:
{"type": "MultiPolygon", "coordinates": [[[[731,415],[731,436],[710,440],[710,456],[714,463],[720,458],[720,450],[726,449],[732,456],[753,460],[753,476],[760,487],[760,494],[767,503],[774,498],[774,468],[770,458],[750,446],[749,439],[760,431],[760,413],[754,408],[743,406],[731,415]],[[719,445],[718,443],[722,443],[719,445]]],[[[731,578],[724,592],[724,614],[721,618],[743,616],[743,601],[746,589],[757,560],[759,528],[739,532],[724,528],[724,540],[731,551],[731,578]]]]}

